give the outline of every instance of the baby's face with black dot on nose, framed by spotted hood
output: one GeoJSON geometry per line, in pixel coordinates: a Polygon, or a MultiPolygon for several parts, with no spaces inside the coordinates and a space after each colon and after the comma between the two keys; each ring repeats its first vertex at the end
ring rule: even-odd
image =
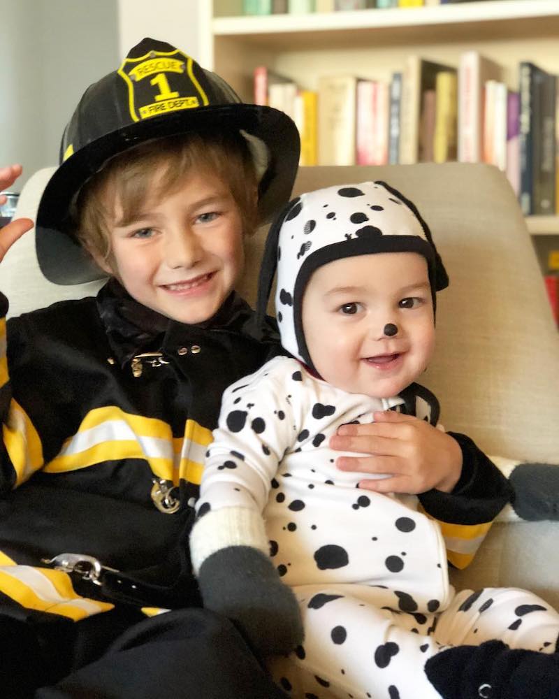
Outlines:
{"type": "Polygon", "coordinates": [[[303,331],[326,382],[375,398],[397,395],[423,373],[435,347],[426,260],[383,252],[321,266],[303,296],[303,331]],[[391,337],[389,323],[398,328],[391,337]]]}

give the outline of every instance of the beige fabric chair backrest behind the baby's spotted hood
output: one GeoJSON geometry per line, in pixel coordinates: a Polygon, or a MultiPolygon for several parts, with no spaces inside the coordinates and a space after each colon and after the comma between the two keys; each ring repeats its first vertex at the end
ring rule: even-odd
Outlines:
{"type": "MultiPolygon", "coordinates": [[[[481,164],[300,168],[294,194],[385,180],[428,222],[450,277],[437,299],[437,349],[420,379],[447,429],[488,454],[559,463],[559,333],[507,178],[481,164]]],[[[240,284],[254,298],[265,231],[240,284]]]]}

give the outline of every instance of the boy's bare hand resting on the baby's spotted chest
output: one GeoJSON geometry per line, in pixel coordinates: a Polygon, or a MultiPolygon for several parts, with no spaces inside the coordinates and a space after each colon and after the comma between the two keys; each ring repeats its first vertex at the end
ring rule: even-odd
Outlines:
{"type": "Polygon", "coordinates": [[[359,487],[377,493],[451,492],[462,472],[462,451],[447,433],[412,415],[375,412],[370,424],[342,425],[330,447],[370,456],[340,456],[336,466],[358,473],[387,473],[362,480],[359,487]]]}

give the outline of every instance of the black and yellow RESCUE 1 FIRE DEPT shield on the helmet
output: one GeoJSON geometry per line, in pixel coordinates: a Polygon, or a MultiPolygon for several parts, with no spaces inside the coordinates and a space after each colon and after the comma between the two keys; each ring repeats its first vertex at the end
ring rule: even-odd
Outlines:
{"type": "Polygon", "coordinates": [[[128,86],[130,116],[135,122],[208,105],[194,61],[182,51],[150,51],[126,58],[117,73],[128,86]]]}

